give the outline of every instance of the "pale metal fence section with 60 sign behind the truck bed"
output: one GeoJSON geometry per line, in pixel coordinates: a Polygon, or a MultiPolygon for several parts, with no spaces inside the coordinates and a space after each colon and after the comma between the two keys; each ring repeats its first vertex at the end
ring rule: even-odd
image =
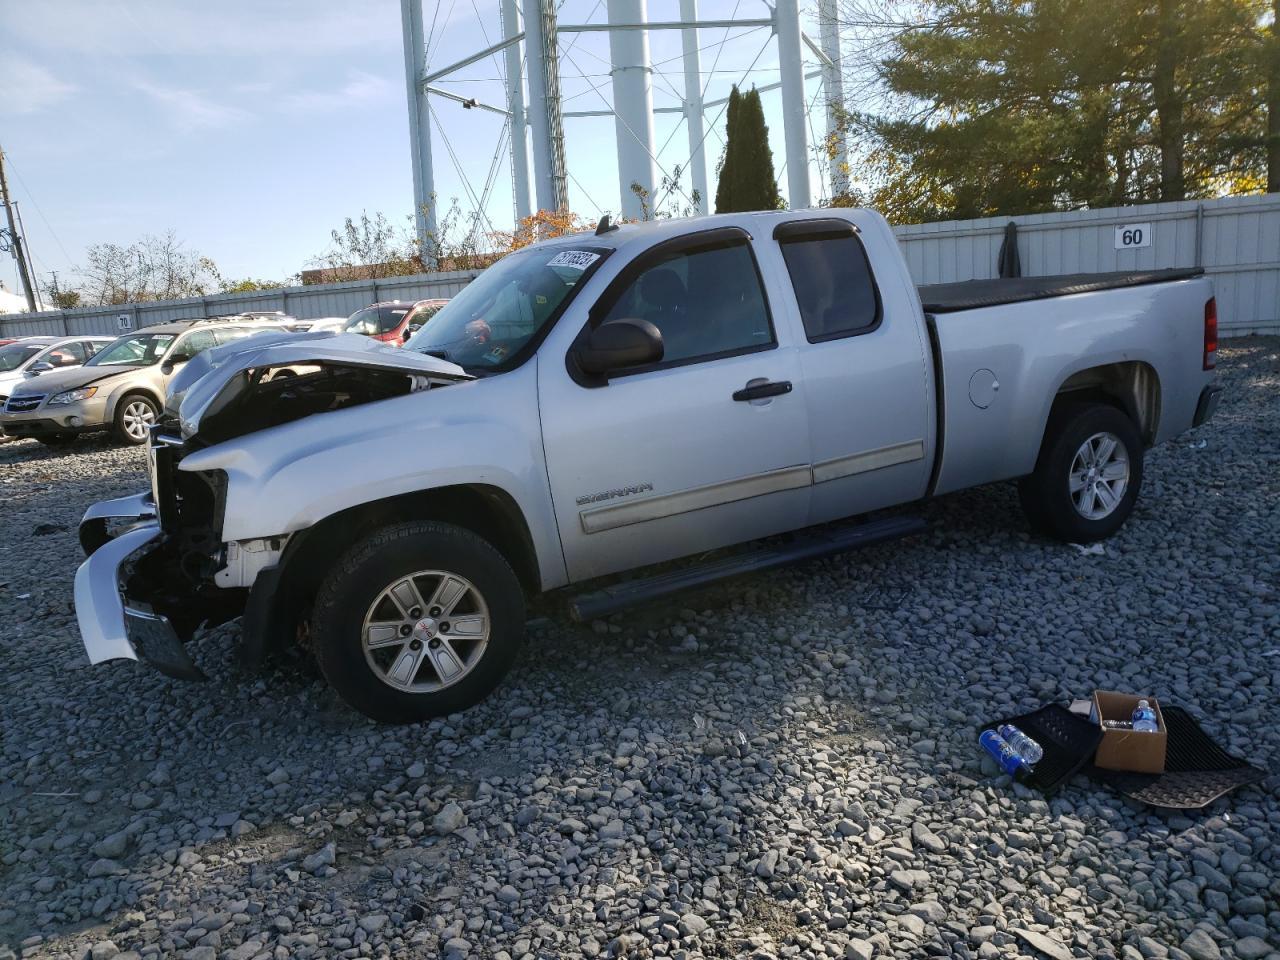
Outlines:
{"type": "Polygon", "coordinates": [[[987,279],[1010,220],[1027,276],[1203,266],[1224,337],[1280,333],[1280,193],[911,224],[895,233],[916,283],[987,279]]]}

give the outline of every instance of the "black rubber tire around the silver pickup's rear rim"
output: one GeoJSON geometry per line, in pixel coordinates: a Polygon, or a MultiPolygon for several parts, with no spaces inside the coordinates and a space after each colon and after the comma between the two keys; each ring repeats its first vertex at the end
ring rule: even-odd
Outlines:
{"type": "Polygon", "coordinates": [[[1050,417],[1041,444],[1036,472],[1018,484],[1023,512],[1037,532],[1066,543],[1105,540],[1119,530],[1142,489],[1142,435],[1123,411],[1105,403],[1078,403],[1061,407],[1050,417]],[[1128,484],[1111,511],[1091,518],[1082,513],[1073,497],[1071,466],[1080,447],[1097,434],[1116,438],[1128,460],[1128,484]]]}

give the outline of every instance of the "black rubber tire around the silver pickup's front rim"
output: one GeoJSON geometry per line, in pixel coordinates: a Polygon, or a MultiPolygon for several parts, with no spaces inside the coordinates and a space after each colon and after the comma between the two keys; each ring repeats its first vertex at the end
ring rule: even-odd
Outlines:
{"type": "MultiPolygon", "coordinates": [[[[498,685],[525,639],[525,596],[511,564],[486,540],[451,524],[421,521],[383,527],[347,550],[320,585],[310,620],[316,662],[338,695],[375,721],[413,723],[463,710],[498,685]],[[431,692],[410,692],[384,681],[369,663],[362,632],[379,595],[422,570],[471,582],[488,608],[489,639],[460,680],[431,692]]],[[[422,669],[431,669],[425,659],[416,676],[424,676],[422,669]]]]}

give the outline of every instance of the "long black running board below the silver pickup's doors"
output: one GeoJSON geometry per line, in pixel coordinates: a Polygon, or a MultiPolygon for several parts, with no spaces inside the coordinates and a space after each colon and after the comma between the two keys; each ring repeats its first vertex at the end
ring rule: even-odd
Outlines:
{"type": "Polygon", "coordinates": [[[828,557],[833,553],[896,540],[901,536],[918,534],[924,529],[925,522],[920,517],[886,517],[835,530],[819,527],[814,531],[797,534],[785,543],[753,547],[709,563],[681,567],[637,580],[626,580],[602,590],[573,596],[568,602],[568,612],[579,622],[599,620],[637,603],[655,600],[659,596],[669,596],[682,590],[692,590],[742,573],[756,573],[787,563],[828,557]]]}

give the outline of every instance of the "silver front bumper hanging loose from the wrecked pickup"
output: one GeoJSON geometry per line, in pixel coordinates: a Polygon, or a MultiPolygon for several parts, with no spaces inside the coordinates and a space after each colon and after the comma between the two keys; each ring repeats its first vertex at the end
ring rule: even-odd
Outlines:
{"type": "Polygon", "coordinates": [[[163,543],[147,494],[96,503],[81,521],[81,543],[88,558],[76,571],[76,620],[90,663],[145,660],[179,680],[205,680],[169,618],[128,595],[134,566],[163,543]],[[131,524],[109,536],[111,520],[131,524]]]}

